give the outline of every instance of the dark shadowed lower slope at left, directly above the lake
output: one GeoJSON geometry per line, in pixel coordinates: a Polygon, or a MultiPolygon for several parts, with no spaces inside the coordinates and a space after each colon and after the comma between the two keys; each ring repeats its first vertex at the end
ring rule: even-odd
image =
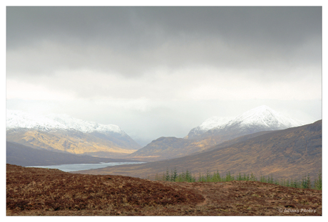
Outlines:
{"type": "Polygon", "coordinates": [[[100,162],[130,162],[34,149],[15,142],[6,142],[6,163],[19,166],[48,166],[58,164],[98,164],[100,162]]]}

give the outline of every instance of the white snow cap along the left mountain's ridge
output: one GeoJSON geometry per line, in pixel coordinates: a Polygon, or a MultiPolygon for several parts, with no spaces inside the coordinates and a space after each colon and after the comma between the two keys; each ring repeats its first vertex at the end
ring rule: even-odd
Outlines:
{"type": "Polygon", "coordinates": [[[51,114],[46,116],[31,115],[19,110],[6,110],[6,129],[27,128],[43,131],[53,129],[75,129],[81,132],[111,132],[124,135],[125,132],[117,125],[102,125],[85,121],[69,115],[51,114]]]}

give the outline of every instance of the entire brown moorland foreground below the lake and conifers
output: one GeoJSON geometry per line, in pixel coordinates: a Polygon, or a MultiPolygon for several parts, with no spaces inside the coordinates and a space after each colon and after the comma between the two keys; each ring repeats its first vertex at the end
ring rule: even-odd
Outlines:
{"type": "Polygon", "coordinates": [[[7,164],[6,215],[321,216],[322,191],[255,181],[149,181],[7,164]]]}

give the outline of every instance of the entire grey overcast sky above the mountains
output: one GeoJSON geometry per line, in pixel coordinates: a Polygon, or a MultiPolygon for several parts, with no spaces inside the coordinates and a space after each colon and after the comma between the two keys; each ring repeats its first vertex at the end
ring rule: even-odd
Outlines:
{"type": "Polygon", "coordinates": [[[6,108],[145,145],[268,105],[322,119],[322,7],[6,7],[6,108]]]}

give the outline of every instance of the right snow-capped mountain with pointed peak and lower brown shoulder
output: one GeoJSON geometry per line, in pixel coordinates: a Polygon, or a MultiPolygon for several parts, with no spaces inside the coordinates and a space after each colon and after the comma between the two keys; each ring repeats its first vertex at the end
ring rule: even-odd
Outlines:
{"type": "Polygon", "coordinates": [[[129,154],[128,158],[154,161],[184,157],[243,135],[304,124],[263,105],[235,118],[211,117],[191,129],[185,138],[160,137],[133,154],[129,154]]]}

